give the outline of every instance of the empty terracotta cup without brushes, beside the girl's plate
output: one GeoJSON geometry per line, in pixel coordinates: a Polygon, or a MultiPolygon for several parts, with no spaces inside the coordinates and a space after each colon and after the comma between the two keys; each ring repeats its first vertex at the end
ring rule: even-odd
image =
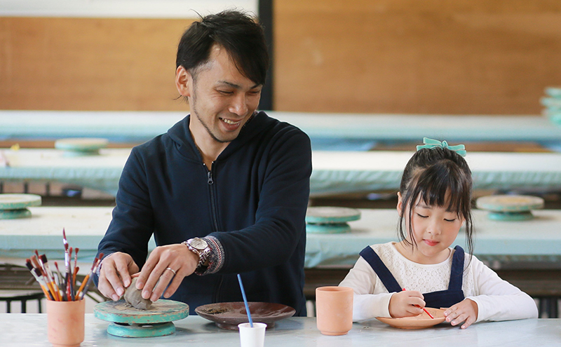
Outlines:
{"type": "Polygon", "coordinates": [[[353,327],[353,289],[316,288],[316,322],[324,335],[344,335],[353,327]]]}

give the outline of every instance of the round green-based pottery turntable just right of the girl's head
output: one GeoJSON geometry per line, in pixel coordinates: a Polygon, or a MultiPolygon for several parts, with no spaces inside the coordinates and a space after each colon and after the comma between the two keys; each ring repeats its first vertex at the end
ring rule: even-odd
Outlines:
{"type": "Polygon", "coordinates": [[[489,211],[489,219],[524,221],[534,218],[532,210],[543,208],[543,199],[525,195],[493,195],[478,198],[475,205],[489,211]]]}

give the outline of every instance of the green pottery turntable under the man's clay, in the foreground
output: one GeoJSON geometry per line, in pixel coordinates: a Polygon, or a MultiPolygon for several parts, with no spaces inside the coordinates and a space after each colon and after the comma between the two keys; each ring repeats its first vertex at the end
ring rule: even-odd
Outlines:
{"type": "Polygon", "coordinates": [[[121,337],[155,337],[175,332],[174,320],[189,315],[189,306],[179,301],[160,299],[148,310],[130,306],[124,299],[104,301],[93,308],[95,318],[111,322],[107,334],[121,337]]]}

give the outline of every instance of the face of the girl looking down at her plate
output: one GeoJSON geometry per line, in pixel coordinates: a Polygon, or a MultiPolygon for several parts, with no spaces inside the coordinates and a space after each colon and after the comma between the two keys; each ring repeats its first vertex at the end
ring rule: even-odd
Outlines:
{"type": "MultiPolygon", "coordinates": [[[[448,247],[456,240],[464,218],[459,217],[456,212],[445,210],[445,207],[426,205],[421,198],[417,199],[412,211],[409,211],[408,207],[404,211],[400,193],[398,212],[405,213],[403,217],[407,228],[407,240],[416,245],[409,254],[410,260],[419,264],[438,264],[445,261],[450,254],[448,247]],[[409,230],[410,218],[412,231],[409,230]]],[[[411,247],[409,249],[411,250],[411,247]]]]}

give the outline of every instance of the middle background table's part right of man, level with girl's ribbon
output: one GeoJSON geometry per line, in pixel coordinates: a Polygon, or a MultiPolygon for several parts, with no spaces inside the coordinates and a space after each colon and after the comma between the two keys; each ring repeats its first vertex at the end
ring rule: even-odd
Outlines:
{"type": "MultiPolygon", "coordinates": [[[[413,151],[313,151],[312,196],[398,191],[413,151]]],[[[470,152],[474,189],[561,189],[561,153],[470,152]]]]}

